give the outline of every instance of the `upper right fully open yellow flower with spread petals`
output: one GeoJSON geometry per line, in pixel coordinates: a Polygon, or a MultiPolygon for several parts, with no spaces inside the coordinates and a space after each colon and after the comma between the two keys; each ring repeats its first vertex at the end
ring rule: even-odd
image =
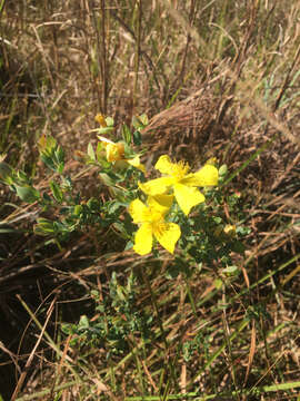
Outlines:
{"type": "Polygon", "coordinates": [[[219,178],[218,169],[212,165],[206,164],[197,173],[189,173],[188,164],[184,162],[172,163],[167,155],[159,158],[156,169],[167,176],[144,184],[139,183],[140,189],[149,196],[166,194],[172,189],[186,215],[193,206],[206,200],[204,195],[197,187],[214,186],[219,178]]]}

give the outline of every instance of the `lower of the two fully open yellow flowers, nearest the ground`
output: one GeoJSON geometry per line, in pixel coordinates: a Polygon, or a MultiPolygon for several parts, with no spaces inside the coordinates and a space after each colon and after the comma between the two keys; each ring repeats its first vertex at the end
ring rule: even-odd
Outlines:
{"type": "Polygon", "coordinates": [[[129,213],[133,223],[141,224],[136,233],[133,250],[139,255],[151,252],[153,237],[170,253],[174,252],[174,246],[180,238],[179,225],[167,223],[164,216],[172,205],[173,196],[160,195],[148,198],[148,206],[140,199],[134,199],[129,205],[129,213]]]}

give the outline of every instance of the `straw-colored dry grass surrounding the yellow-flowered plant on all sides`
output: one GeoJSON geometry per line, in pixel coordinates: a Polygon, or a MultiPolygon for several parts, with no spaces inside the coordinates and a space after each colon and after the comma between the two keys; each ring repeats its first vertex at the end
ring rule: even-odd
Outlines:
{"type": "Polygon", "coordinates": [[[218,266],[177,275],[166,253],[138,258],[111,231],[58,251],[32,234],[34,205],[1,186],[4,400],[299,397],[299,19],[296,0],[0,1],[8,163],[44,187],[37,140],[50,134],[78,188],[101,196],[74,151],[96,143],[97,113],[118,127],[146,113],[146,162],[216,156],[232,174],[226,194],[240,195],[234,218],[251,228],[240,276],[218,287],[218,266]],[[61,324],[82,315],[134,329],[122,350],[109,336],[74,343],[61,324]]]}

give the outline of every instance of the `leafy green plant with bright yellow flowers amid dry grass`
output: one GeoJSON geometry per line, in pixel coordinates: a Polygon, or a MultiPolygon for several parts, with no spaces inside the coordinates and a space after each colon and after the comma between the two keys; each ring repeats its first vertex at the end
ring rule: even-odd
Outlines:
{"type": "Polygon", "coordinates": [[[239,228],[219,211],[223,196],[218,183],[224,179],[224,166],[218,169],[216,160],[210,159],[193,173],[188,163],[174,163],[162,155],[154,165],[161,177],[146,179],[150,173],[140,160],[142,153],[136,151],[146,116],[132,121],[133,133],[123,125],[119,131],[122,138],[116,133],[112,118],[98,115],[96,120],[100,127],[92,131],[97,131],[99,141],[96,148],[89,144],[81,159],[97,167],[103,188],[101,197],[86,199],[74,192],[73,180],[64,172],[64,151],[50,136],[39,140],[41,160],[56,173],[49,180],[50,193],[42,193],[23,172],[14,172],[1,162],[0,179],[23,202],[38,204],[42,209],[34,232],[52,236],[59,245],[74,231],[91,225],[100,231],[110,227],[126,250],[133,248],[139,255],[150,254],[158,243],[170,254],[178,248],[174,257],[192,257],[198,264],[210,263],[219,257],[217,254],[224,253],[221,263],[228,267],[231,258],[227,246],[230,243],[238,248],[239,228]],[[43,213],[54,213],[56,218],[43,213]]]}

